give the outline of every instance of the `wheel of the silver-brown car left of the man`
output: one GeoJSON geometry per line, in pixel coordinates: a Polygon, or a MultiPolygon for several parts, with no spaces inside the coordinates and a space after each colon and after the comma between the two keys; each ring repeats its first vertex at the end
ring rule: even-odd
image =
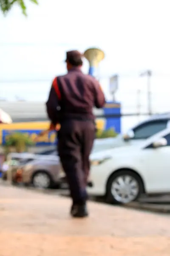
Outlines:
{"type": "Polygon", "coordinates": [[[36,188],[48,189],[51,187],[51,177],[46,172],[36,172],[32,178],[32,184],[36,188]]]}

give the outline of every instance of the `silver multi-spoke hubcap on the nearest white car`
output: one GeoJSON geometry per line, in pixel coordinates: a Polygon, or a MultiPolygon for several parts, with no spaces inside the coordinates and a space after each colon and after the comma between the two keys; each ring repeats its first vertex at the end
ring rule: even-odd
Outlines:
{"type": "Polygon", "coordinates": [[[116,201],[129,203],[136,199],[139,193],[139,184],[130,175],[119,176],[113,180],[111,193],[116,201]]]}

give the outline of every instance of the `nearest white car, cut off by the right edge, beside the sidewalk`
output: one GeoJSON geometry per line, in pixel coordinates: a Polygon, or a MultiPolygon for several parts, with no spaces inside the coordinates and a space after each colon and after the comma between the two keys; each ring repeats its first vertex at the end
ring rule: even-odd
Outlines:
{"type": "Polygon", "coordinates": [[[89,195],[129,203],[140,195],[170,192],[170,128],[138,145],[91,154],[89,195]]]}

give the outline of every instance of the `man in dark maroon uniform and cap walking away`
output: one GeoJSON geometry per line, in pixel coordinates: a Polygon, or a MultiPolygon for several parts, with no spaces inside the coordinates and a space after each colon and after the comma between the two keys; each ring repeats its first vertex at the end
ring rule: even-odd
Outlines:
{"type": "Polygon", "coordinates": [[[67,52],[65,62],[68,73],[53,80],[46,106],[52,124],[61,125],[58,152],[73,200],[71,215],[85,217],[89,155],[95,138],[93,107],[102,108],[105,96],[98,81],[82,73],[80,52],[67,52]]]}

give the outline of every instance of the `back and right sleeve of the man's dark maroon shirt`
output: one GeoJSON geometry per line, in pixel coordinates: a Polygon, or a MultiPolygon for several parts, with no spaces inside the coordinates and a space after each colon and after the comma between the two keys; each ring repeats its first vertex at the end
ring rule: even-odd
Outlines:
{"type": "Polygon", "coordinates": [[[94,119],[93,108],[102,108],[105,98],[99,83],[79,68],[71,69],[65,76],[57,77],[61,93],[61,116],[63,118],[94,119]]]}

